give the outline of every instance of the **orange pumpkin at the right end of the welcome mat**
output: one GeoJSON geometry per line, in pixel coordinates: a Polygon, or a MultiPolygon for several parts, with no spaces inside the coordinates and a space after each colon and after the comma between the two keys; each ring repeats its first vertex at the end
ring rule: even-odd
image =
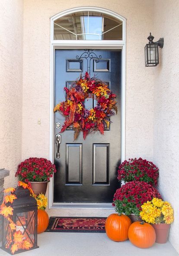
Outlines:
{"type": "Polygon", "coordinates": [[[105,232],[109,239],[122,242],[128,239],[131,220],[126,215],[110,214],[105,221],[105,232]]]}

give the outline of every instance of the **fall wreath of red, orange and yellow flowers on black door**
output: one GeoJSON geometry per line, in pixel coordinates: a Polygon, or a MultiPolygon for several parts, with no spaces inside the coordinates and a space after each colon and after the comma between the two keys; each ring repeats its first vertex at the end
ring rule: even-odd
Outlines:
{"type": "Polygon", "coordinates": [[[73,125],[74,140],[77,139],[80,131],[85,139],[89,133],[99,130],[104,134],[104,128],[109,128],[110,117],[117,114],[116,95],[111,92],[109,86],[97,79],[96,76],[90,78],[86,72],[84,76],[71,84],[70,89],[64,87],[66,100],[54,107],[54,112],[59,111],[66,120],[61,128],[61,133],[67,127],[73,125]],[[93,98],[97,101],[94,108],[86,109],[84,100],[93,98]]]}

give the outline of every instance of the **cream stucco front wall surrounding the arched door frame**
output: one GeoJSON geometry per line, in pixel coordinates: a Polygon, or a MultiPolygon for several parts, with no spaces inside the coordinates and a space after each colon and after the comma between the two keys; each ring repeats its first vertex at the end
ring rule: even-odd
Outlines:
{"type": "MultiPolygon", "coordinates": [[[[153,68],[144,67],[144,45],[153,27],[151,3],[113,0],[110,10],[127,19],[126,158],[142,156],[153,160],[153,68]]],[[[72,0],[24,0],[22,160],[49,157],[50,17],[77,6],[109,9],[109,1],[83,0],[82,5],[81,1],[72,0]]],[[[90,209],[85,211],[94,215],[90,209]]],[[[82,213],[76,209],[60,212],[82,213]]],[[[98,212],[100,215],[102,211],[95,210],[96,216],[98,212]]],[[[50,215],[58,213],[59,210],[49,211],[50,215]]]]}

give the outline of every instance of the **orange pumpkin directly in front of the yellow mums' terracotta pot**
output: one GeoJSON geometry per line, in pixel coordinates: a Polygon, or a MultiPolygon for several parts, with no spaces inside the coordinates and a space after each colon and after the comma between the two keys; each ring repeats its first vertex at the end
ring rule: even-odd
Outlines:
{"type": "Polygon", "coordinates": [[[128,230],[128,237],[130,242],[139,248],[149,248],[156,240],[154,228],[144,221],[132,223],[128,230]]]}

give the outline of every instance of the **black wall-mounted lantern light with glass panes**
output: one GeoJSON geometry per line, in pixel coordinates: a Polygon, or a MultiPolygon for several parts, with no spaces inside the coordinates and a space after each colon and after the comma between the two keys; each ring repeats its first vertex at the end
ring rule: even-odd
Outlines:
{"type": "Polygon", "coordinates": [[[160,38],[157,42],[153,42],[154,36],[147,37],[149,43],[145,45],[145,66],[153,67],[159,64],[159,48],[163,48],[163,37],[160,38]]]}

